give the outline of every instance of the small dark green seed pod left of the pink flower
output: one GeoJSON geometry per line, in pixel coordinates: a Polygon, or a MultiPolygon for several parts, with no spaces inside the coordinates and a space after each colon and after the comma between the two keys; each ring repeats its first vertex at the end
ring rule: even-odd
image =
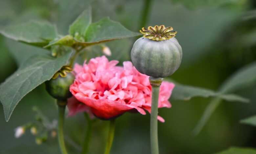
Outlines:
{"type": "Polygon", "coordinates": [[[58,71],[49,81],[46,81],[47,92],[57,100],[66,100],[71,97],[72,94],[69,91],[70,85],[73,84],[75,76],[72,73],[67,73],[66,71],[58,71]],[[56,74],[60,75],[56,75],[56,74]],[[64,74],[64,75],[63,75],[64,74]]]}

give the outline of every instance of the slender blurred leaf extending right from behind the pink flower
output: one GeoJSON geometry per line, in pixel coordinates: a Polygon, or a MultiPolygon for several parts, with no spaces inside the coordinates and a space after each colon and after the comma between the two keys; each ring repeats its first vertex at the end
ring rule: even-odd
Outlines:
{"type": "Polygon", "coordinates": [[[248,103],[249,101],[248,99],[234,94],[222,94],[210,89],[185,86],[175,83],[175,87],[172,91],[172,99],[188,101],[193,97],[219,97],[226,101],[239,101],[243,103],[248,103]]]}

